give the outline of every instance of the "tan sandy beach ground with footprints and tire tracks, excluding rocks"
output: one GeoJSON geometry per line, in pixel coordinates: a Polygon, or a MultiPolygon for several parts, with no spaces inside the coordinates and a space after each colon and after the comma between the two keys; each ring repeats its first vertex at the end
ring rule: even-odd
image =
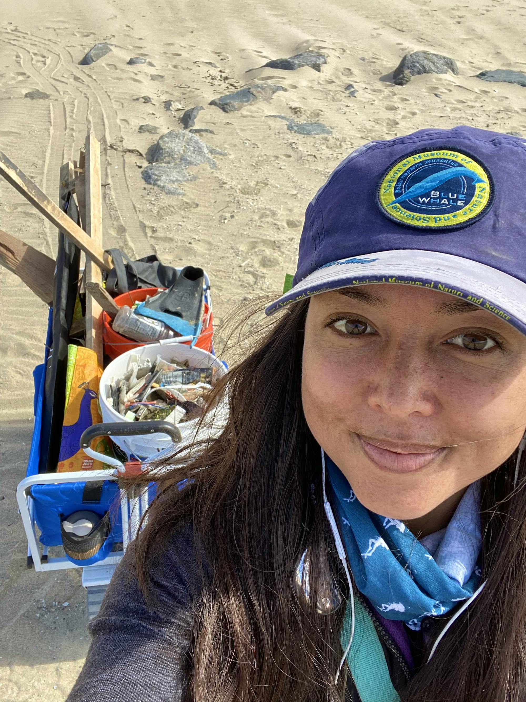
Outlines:
{"type": "MultiPolygon", "coordinates": [[[[519,0],[4,2],[0,149],[56,200],[60,166],[76,158],[92,128],[102,150],[105,248],[202,266],[220,324],[236,303],[281,289],[295,270],[306,204],[356,147],[426,126],[470,124],[526,136],[526,88],[476,77],[526,70],[525,27],[519,0]],[[79,65],[97,42],[112,51],[79,65]],[[262,67],[308,50],[326,56],[319,72],[262,67]],[[450,57],[459,74],[393,84],[393,69],[413,51],[450,57]],[[130,58],[145,62],[130,65],[130,58]],[[209,104],[254,84],[280,89],[234,112],[209,104]],[[194,138],[209,160],[188,168],[194,179],[179,183],[182,194],[149,185],[142,178],[149,150],[182,129],[183,112],[196,106],[204,109],[194,128],[205,131],[194,138]],[[304,134],[298,125],[305,123],[325,129],[304,134]]],[[[55,257],[57,230],[4,180],[0,229],[55,257]]],[[[47,316],[46,305],[0,267],[4,702],[65,700],[89,644],[79,570],[26,569],[15,501],[47,316]]]]}

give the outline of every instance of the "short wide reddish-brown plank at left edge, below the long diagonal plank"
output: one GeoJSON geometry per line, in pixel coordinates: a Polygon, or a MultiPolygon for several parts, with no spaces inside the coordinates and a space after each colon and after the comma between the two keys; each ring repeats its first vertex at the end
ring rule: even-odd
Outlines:
{"type": "Polygon", "coordinates": [[[0,263],[18,275],[43,302],[53,304],[53,258],[0,230],[0,263]]]}

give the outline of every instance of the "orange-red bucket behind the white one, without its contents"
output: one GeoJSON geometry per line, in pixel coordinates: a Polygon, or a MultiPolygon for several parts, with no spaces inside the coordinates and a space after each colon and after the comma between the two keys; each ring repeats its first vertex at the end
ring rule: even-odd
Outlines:
{"type": "MultiPolygon", "coordinates": [[[[165,290],[165,288],[143,288],[142,290],[130,290],[128,293],[122,293],[122,295],[118,295],[116,298],[114,298],[114,303],[117,305],[117,307],[123,307],[124,305],[133,307],[135,303],[143,303],[148,296],[153,297],[160,290],[165,290]]],[[[174,341],[176,340],[177,337],[174,338],[174,341]]],[[[112,327],[112,320],[109,319],[106,312],[102,312],[102,342],[104,343],[104,353],[112,360],[117,356],[120,356],[121,353],[124,353],[125,351],[131,351],[139,346],[146,345],[140,341],[128,339],[126,336],[122,336],[122,334],[114,331],[112,327]]],[[[183,343],[189,346],[191,342],[184,341],[183,343]]],[[[199,334],[194,346],[197,346],[204,351],[208,351],[209,353],[213,353],[213,316],[208,303],[205,303],[203,328],[201,329],[201,333],[199,334]]]]}

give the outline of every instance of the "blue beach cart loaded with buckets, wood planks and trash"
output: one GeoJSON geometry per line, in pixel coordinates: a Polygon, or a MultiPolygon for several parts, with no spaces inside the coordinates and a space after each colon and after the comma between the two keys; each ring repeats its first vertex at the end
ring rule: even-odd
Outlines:
{"type": "MultiPolygon", "coordinates": [[[[176,268],[156,256],[130,260],[118,249],[104,251],[100,145],[91,132],[78,159],[60,168],[58,204],[1,151],[0,176],[58,228],[56,261],[0,232],[5,244],[0,264],[51,308],[43,364],[33,373],[27,476],[17,491],[27,565],[37,571],[83,567],[86,583],[105,584],[138,533],[151,499],[149,489],[135,497],[120,489],[116,470],[142,470],[147,459],[174,444],[190,448],[194,439],[222,431],[227,419],[223,400],[203,416],[206,393],[226,373],[213,353],[210,281],[198,267],[176,268]],[[141,303],[148,303],[146,314],[135,312],[141,303]],[[128,310],[119,312],[124,305],[128,310]],[[137,320],[142,336],[137,336],[137,320]],[[135,331],[126,327],[130,321],[135,331]],[[144,345],[153,338],[168,343],[144,345]],[[136,370],[128,366],[130,357],[136,370]],[[124,378],[127,388],[121,388],[124,378]],[[110,435],[113,448],[126,453],[126,465],[120,453],[118,458],[104,455],[110,435]],[[104,470],[86,471],[99,467],[104,470]],[[59,546],[66,558],[48,556],[48,548],[59,546]],[[88,570],[100,563],[104,574],[88,570]]],[[[95,588],[91,585],[86,584],[88,590],[95,588]]]]}

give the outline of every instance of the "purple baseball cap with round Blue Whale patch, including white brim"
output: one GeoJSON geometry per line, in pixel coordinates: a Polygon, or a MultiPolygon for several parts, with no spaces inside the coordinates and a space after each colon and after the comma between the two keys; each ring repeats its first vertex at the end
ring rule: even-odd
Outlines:
{"type": "Polygon", "coordinates": [[[371,283],[422,286],[526,333],[526,141],[459,126],[352,152],[306,209],[292,288],[311,295],[371,283]]]}

